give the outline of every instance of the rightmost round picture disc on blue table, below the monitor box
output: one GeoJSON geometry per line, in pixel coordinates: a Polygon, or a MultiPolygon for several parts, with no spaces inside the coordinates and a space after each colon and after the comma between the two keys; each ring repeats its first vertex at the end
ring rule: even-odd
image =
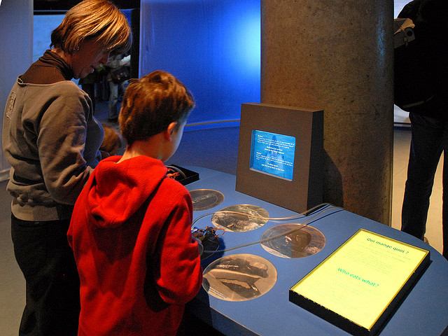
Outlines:
{"type": "Polygon", "coordinates": [[[321,251],[325,246],[325,236],[309,225],[282,224],[263,233],[261,246],[281,258],[303,258],[321,251]]]}

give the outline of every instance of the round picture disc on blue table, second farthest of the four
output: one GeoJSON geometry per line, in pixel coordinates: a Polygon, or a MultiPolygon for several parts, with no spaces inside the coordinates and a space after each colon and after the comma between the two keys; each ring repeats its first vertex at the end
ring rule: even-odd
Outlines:
{"type": "Polygon", "coordinates": [[[237,204],[216,211],[211,223],[226,231],[245,232],[262,227],[268,218],[269,213],[263,208],[251,204],[237,204]]]}

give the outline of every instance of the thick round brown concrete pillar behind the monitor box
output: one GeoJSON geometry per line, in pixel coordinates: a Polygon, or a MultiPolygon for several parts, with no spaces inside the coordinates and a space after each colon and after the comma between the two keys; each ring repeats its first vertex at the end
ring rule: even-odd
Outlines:
{"type": "Polygon", "coordinates": [[[261,102],[324,109],[324,201],[390,225],[393,0],[261,10],[261,102]]]}

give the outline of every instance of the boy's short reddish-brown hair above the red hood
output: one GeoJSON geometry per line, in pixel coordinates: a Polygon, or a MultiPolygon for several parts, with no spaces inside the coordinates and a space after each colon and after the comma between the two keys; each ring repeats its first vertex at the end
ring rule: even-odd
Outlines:
{"type": "Polygon", "coordinates": [[[157,70],[130,80],[121,106],[120,130],[127,144],[183,123],[195,106],[192,94],[171,73],[157,70]]]}

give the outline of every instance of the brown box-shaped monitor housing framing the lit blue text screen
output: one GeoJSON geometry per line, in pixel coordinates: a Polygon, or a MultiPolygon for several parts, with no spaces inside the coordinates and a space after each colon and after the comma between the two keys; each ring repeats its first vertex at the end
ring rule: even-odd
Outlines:
{"type": "Polygon", "coordinates": [[[297,212],[320,204],[323,193],[323,110],[242,104],[236,190],[297,212]],[[292,181],[251,169],[253,130],[295,137],[292,181]]]}

